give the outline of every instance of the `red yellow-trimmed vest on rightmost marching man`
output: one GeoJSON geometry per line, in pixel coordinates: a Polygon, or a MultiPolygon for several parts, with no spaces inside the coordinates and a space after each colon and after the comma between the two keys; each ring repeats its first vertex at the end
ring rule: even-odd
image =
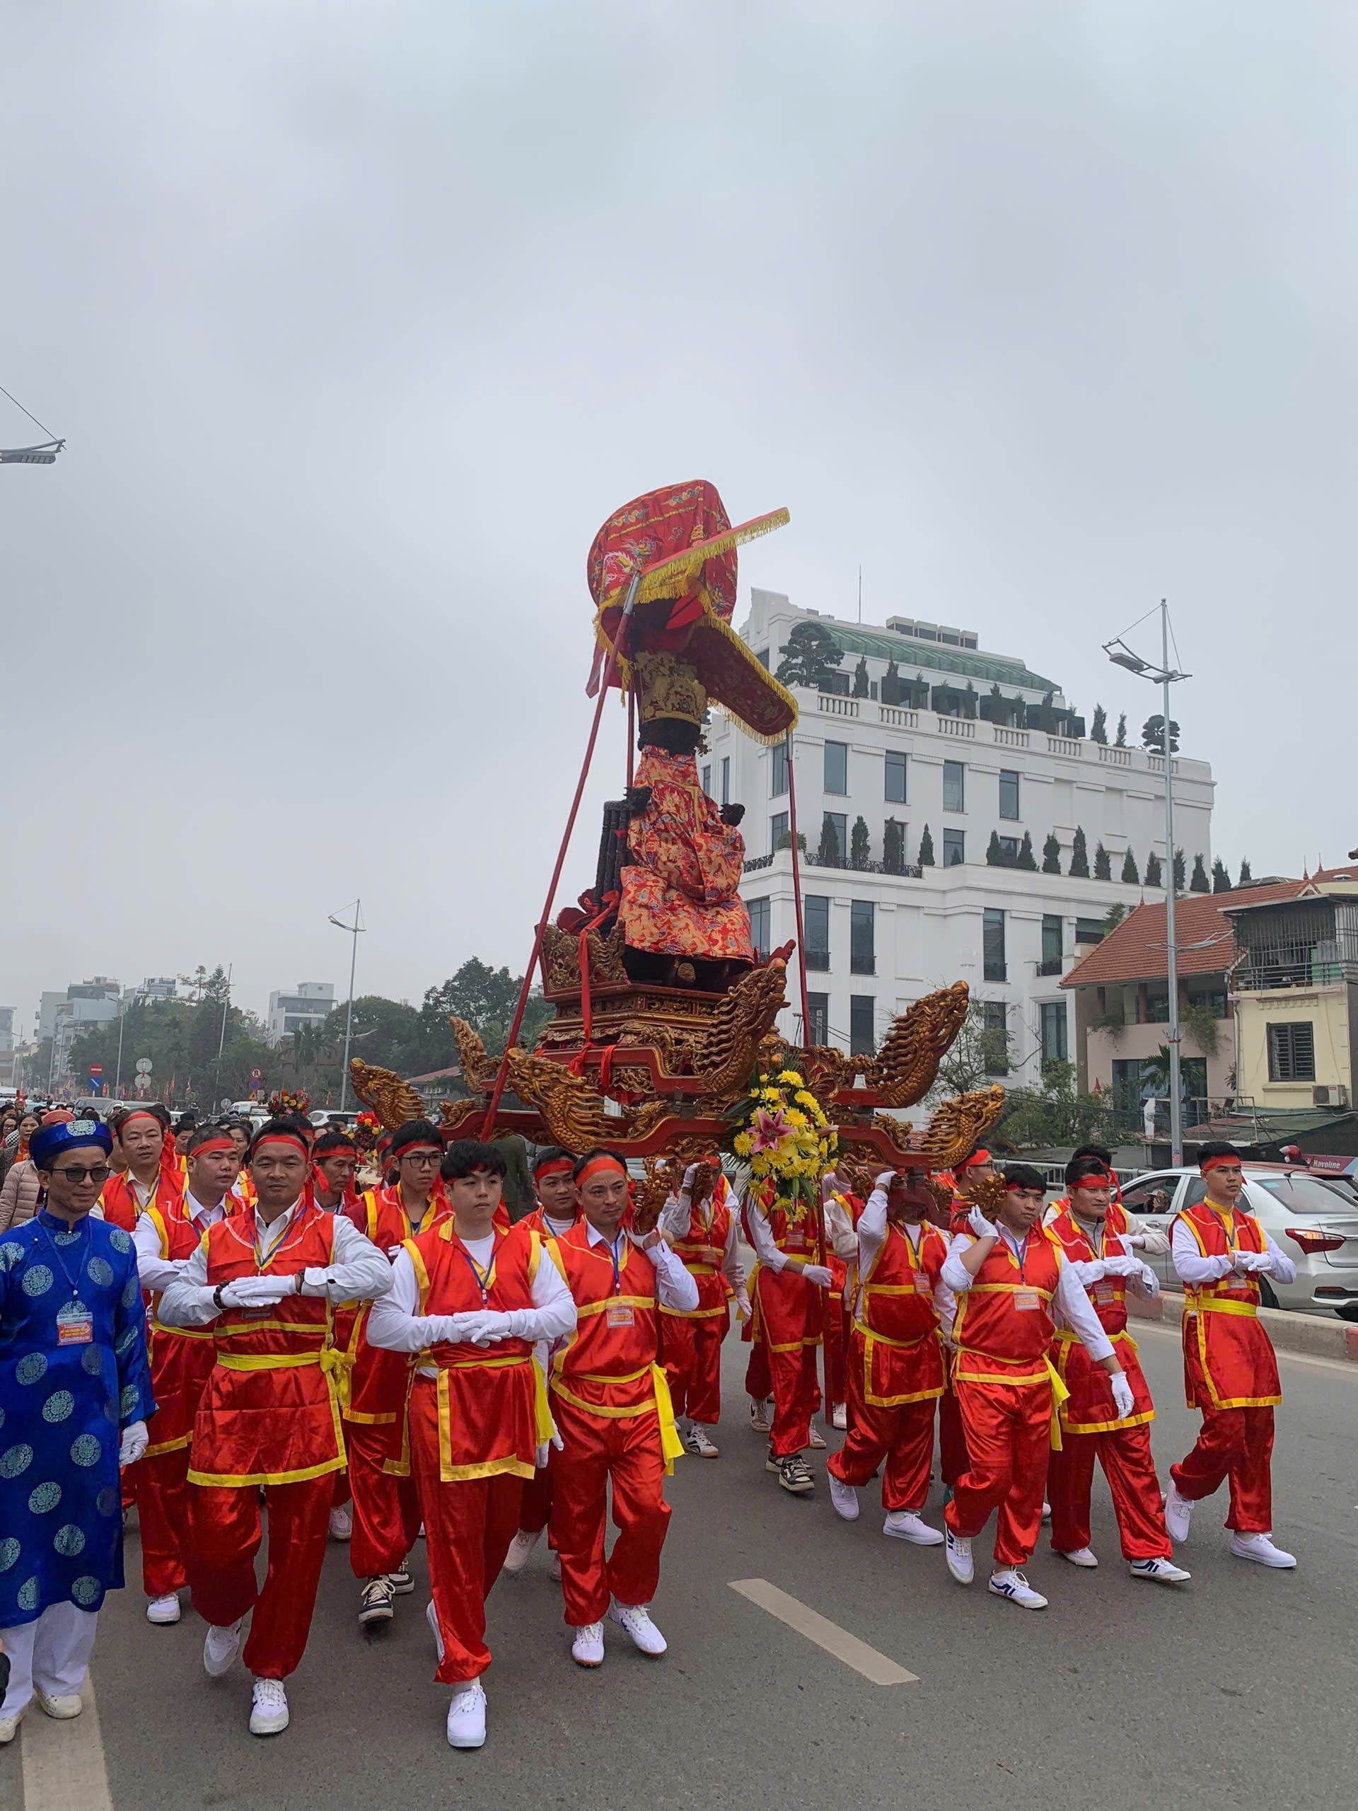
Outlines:
{"type": "MultiPolygon", "coordinates": [[[[1177,1213],[1202,1257],[1228,1251],[1264,1251],[1264,1231],[1253,1213],[1229,1215],[1229,1233],[1206,1201],[1177,1213]]],[[[1184,1284],[1184,1391],[1190,1409],[1269,1409],[1282,1402],[1273,1340],[1258,1322],[1260,1289],[1255,1277],[1228,1271],[1219,1282],[1184,1284]]]]}

